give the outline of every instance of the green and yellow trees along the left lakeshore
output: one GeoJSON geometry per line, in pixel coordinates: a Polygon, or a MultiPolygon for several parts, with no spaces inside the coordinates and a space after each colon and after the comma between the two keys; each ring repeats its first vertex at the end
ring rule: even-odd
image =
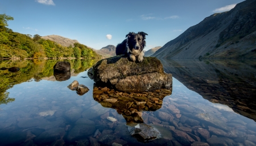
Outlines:
{"type": "Polygon", "coordinates": [[[74,47],[64,47],[40,35],[24,35],[7,28],[7,21],[13,17],[0,14],[0,59],[24,58],[63,58],[100,59],[101,56],[86,45],[75,43],[74,47]]]}

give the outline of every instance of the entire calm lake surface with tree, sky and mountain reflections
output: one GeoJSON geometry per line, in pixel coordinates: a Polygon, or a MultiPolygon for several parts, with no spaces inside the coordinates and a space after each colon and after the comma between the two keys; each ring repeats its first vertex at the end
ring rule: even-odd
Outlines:
{"type": "Polygon", "coordinates": [[[93,60],[71,60],[71,77],[56,81],[56,62],[0,62],[20,68],[0,70],[0,145],[256,145],[254,60],[161,60],[173,76],[168,94],[93,86],[93,60]],[[74,80],[88,93],[68,89],[74,80]],[[131,123],[160,135],[143,141],[131,123]]]}

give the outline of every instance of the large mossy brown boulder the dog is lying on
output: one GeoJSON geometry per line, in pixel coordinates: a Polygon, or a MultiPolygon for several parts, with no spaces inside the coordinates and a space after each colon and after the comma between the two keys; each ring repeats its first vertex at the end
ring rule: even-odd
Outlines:
{"type": "Polygon", "coordinates": [[[90,73],[94,82],[110,84],[121,91],[141,92],[172,86],[172,74],[164,73],[162,63],[155,57],[134,62],[122,55],[114,56],[98,61],[90,73]]]}

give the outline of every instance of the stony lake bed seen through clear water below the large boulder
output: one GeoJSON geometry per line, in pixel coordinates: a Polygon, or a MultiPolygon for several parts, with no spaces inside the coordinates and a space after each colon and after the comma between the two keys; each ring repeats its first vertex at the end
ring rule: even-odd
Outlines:
{"type": "Polygon", "coordinates": [[[15,101],[0,105],[0,145],[256,145],[253,119],[175,76],[171,89],[136,93],[97,86],[87,74],[8,89],[15,101]],[[71,90],[75,80],[89,90],[71,90]]]}

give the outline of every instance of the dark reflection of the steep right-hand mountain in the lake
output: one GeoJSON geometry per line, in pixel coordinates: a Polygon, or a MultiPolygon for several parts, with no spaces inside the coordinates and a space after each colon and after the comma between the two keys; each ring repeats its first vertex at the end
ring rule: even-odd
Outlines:
{"type": "Polygon", "coordinates": [[[255,60],[160,60],[188,89],[256,121],[255,60]]]}

